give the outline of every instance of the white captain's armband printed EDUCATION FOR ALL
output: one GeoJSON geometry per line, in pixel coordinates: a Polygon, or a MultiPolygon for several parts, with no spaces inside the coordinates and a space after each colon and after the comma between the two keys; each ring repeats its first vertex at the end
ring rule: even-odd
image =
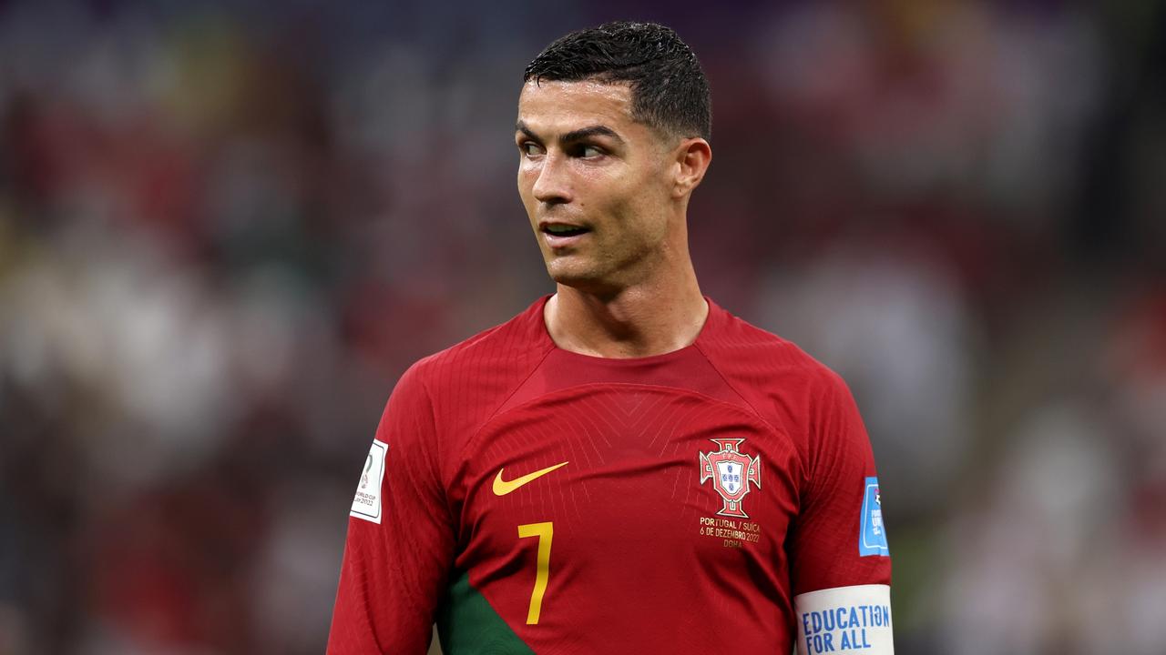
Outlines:
{"type": "Polygon", "coordinates": [[[798,655],[893,655],[890,585],[840,586],[794,597],[798,655]]]}

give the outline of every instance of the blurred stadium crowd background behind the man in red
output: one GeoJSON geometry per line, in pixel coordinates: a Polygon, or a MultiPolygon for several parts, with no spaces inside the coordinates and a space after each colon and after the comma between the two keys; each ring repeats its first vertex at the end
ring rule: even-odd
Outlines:
{"type": "Polygon", "coordinates": [[[851,383],[902,655],[1166,652],[1160,2],[0,1],[0,653],[321,653],[413,360],[552,289],[526,63],[714,87],[705,293],[851,383]]]}

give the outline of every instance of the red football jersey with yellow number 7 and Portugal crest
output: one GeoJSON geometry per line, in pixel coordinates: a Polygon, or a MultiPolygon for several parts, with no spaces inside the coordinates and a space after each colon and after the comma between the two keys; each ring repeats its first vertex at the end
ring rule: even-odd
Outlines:
{"type": "Polygon", "coordinates": [[[545,304],[399,381],[329,653],[422,654],[435,621],[447,655],[890,653],[871,649],[891,564],[843,381],[711,301],[691,346],[638,359],[559,348],[545,304]]]}

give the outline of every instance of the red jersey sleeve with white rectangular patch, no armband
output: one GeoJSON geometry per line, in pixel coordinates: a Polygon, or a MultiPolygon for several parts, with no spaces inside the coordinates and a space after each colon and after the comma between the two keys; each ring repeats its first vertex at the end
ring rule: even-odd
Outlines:
{"type": "Polygon", "coordinates": [[[440,445],[414,366],[393,390],[361,467],[329,654],[426,653],[456,538],[440,445]]]}

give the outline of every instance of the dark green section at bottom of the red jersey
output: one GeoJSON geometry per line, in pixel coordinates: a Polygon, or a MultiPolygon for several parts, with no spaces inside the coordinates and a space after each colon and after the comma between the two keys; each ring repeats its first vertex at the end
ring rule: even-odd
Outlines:
{"type": "Polygon", "coordinates": [[[444,655],[534,655],[462,573],[437,607],[437,636],[444,655]]]}

